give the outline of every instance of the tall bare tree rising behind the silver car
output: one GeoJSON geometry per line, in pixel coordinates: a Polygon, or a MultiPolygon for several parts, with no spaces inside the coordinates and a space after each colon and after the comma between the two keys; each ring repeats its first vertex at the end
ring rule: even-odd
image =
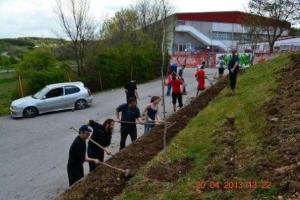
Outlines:
{"type": "Polygon", "coordinates": [[[94,39],[95,25],[89,15],[89,0],[56,0],[55,13],[64,35],[71,40],[78,75],[81,76],[85,67],[87,45],[94,39]]]}

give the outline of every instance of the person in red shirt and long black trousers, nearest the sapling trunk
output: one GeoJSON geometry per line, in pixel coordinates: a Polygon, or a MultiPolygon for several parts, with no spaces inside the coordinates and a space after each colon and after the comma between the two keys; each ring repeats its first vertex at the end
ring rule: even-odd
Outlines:
{"type": "Polygon", "coordinates": [[[182,108],[182,91],[181,91],[181,85],[183,84],[183,81],[177,77],[175,74],[172,76],[172,80],[170,82],[172,86],[172,103],[173,103],[173,109],[174,112],[176,112],[176,101],[178,100],[179,107],[182,108]]]}

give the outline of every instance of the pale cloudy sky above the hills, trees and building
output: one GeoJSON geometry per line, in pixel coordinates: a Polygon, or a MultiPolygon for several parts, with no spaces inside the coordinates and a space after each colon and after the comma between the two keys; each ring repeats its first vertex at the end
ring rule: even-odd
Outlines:
{"type": "MultiPolygon", "coordinates": [[[[68,1],[68,0],[62,0],[68,1]]],[[[0,38],[54,37],[58,30],[55,0],[0,0],[0,38]]],[[[90,0],[92,15],[101,23],[136,0],[90,0]]],[[[244,11],[248,0],[170,0],[178,12],[244,11]]]]}

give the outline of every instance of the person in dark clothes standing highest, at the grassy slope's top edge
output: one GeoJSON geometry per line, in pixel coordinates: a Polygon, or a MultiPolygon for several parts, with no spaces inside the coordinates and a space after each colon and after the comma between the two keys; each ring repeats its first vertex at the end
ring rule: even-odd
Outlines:
{"type": "Polygon", "coordinates": [[[239,56],[236,53],[236,50],[232,50],[232,56],[228,64],[228,71],[229,71],[229,81],[230,81],[230,88],[232,94],[235,94],[235,86],[237,80],[237,74],[239,71],[239,56]]]}

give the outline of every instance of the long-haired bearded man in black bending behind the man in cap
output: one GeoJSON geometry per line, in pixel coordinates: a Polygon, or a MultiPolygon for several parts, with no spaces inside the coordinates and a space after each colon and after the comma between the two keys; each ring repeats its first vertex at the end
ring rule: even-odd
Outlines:
{"type": "MultiPolygon", "coordinates": [[[[111,143],[111,136],[114,128],[114,120],[113,119],[107,119],[104,121],[103,125],[93,121],[89,120],[88,125],[93,128],[93,134],[91,136],[91,139],[100,144],[102,147],[106,148],[111,143]]],[[[108,155],[111,155],[111,151],[106,148],[106,153],[108,155]]],[[[99,146],[94,144],[93,142],[88,142],[88,156],[90,158],[96,158],[99,159],[101,162],[104,161],[104,150],[101,149],[99,146]]],[[[97,167],[96,164],[90,162],[90,172],[94,171],[97,167]]]]}

